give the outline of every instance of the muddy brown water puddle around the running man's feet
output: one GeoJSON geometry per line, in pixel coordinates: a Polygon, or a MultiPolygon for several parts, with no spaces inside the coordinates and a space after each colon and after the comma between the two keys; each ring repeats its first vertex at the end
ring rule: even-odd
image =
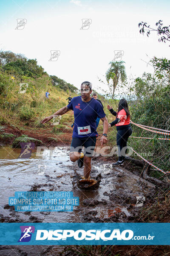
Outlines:
{"type": "Polygon", "coordinates": [[[112,168],[111,163],[97,159],[92,160],[91,178],[101,173],[99,189],[73,188],[74,170],[83,175],[83,168],[79,169],[77,162],[71,163],[67,147],[45,149],[41,156],[34,151],[28,159],[18,159],[20,150],[0,148],[1,222],[133,221],[141,208],[136,206],[136,196],[146,197],[154,191],[155,185],[139,180],[123,166],[112,168]],[[8,197],[16,191],[72,191],[79,197],[79,206],[73,212],[15,212],[8,206],[8,197]]]}

